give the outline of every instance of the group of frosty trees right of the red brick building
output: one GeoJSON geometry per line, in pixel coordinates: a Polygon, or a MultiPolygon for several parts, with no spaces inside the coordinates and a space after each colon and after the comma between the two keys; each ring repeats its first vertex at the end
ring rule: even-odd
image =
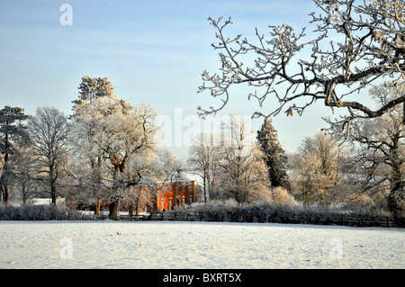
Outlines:
{"type": "MultiPolygon", "coordinates": [[[[400,93],[385,85],[370,89],[377,105],[400,93]]],[[[401,218],[405,209],[402,118],[398,105],[378,119],[352,121],[348,138],[332,127],[332,133],[303,139],[298,152],[288,157],[272,121],[266,118],[245,157],[238,157],[243,140],[227,147],[215,143],[219,136],[203,134],[194,141],[189,163],[202,178],[206,200],[231,199],[243,205],[295,199],[304,207],[344,203],[381,208],[401,218]]],[[[247,139],[243,123],[230,122],[232,129],[224,136],[247,139]]]]}

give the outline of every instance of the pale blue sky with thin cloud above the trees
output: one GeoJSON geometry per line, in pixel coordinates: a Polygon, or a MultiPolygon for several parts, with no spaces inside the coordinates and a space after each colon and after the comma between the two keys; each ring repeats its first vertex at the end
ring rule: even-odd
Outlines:
{"type": "MultiPolygon", "coordinates": [[[[33,114],[52,105],[69,114],[82,76],[107,76],[115,93],[130,103],[151,103],[159,114],[195,114],[215,102],[197,94],[202,70],[219,67],[211,48],[215,31],[207,18],[232,18],[229,37],[255,38],[255,27],[288,23],[301,31],[314,11],[310,0],[293,1],[14,1],[0,2],[0,106],[33,114]],[[71,4],[73,25],[62,26],[61,4],[71,4]]],[[[251,115],[256,103],[235,89],[223,114],[251,115]]],[[[271,107],[268,107],[271,108],[271,107]]],[[[330,112],[320,105],[302,117],[274,120],[280,140],[295,151],[305,136],[326,123],[330,112]]],[[[257,127],[261,121],[255,121],[257,127]]]]}

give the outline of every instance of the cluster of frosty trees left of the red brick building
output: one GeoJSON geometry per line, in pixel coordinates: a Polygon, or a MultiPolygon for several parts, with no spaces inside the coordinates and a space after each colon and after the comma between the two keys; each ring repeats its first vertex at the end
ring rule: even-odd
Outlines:
{"type": "Polygon", "coordinates": [[[141,185],[157,189],[157,182],[170,180],[180,168],[155,145],[157,113],[148,103],[121,100],[106,77],[84,76],[78,89],[68,117],[50,106],[32,116],[9,106],[0,111],[4,204],[13,187],[24,203],[48,193],[56,204],[58,195],[66,195],[74,207],[94,202],[95,214],[104,201],[116,220],[122,201],[131,211],[150,202],[141,185]]]}

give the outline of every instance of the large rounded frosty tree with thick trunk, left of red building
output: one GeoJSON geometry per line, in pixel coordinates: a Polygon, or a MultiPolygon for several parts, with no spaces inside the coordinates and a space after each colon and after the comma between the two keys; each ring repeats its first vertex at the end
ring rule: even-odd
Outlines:
{"type": "Polygon", "coordinates": [[[103,163],[112,173],[109,179],[112,220],[118,219],[122,193],[133,185],[124,174],[130,158],[154,146],[155,116],[156,112],[146,103],[131,105],[112,95],[89,103],[77,123],[85,127],[91,145],[102,151],[103,163]]]}

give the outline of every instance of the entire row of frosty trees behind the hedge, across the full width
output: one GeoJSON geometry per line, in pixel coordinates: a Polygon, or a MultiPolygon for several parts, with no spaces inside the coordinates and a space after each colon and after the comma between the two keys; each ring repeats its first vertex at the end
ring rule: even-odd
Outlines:
{"type": "MultiPolygon", "coordinates": [[[[288,156],[269,118],[253,132],[247,121],[229,115],[220,134],[202,133],[193,140],[184,164],[155,145],[157,114],[148,103],[119,99],[107,78],[85,76],[79,91],[69,117],[53,107],[38,108],[32,116],[21,108],[0,111],[5,204],[11,189],[20,192],[23,202],[45,192],[56,203],[64,194],[75,207],[92,202],[95,214],[105,202],[116,220],[123,202],[133,212],[152,200],[142,186],[157,190],[157,182],[173,181],[178,171],[187,170],[200,177],[204,202],[345,202],[403,216],[400,106],[378,120],[353,121],[349,138],[338,132],[308,137],[297,154],[288,156]]],[[[383,85],[370,90],[381,105],[396,93],[401,91],[383,85]]]]}

